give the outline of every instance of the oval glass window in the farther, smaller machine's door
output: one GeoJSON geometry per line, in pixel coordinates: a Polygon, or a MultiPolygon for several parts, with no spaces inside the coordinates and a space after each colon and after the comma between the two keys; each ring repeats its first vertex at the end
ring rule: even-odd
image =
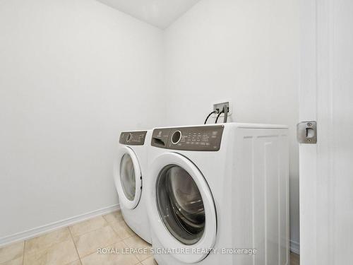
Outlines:
{"type": "Polygon", "coordinates": [[[120,181],[126,198],[130,201],[135,199],[136,176],[133,160],[128,153],[124,154],[120,162],[120,181]]]}

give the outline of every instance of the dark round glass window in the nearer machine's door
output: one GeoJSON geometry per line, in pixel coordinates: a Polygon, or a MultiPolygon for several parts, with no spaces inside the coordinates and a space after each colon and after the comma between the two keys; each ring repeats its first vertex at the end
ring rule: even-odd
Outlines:
{"type": "Polygon", "coordinates": [[[157,178],[157,208],[169,232],[194,245],[205,230],[203,199],[193,177],[179,165],[167,165],[157,178]]]}

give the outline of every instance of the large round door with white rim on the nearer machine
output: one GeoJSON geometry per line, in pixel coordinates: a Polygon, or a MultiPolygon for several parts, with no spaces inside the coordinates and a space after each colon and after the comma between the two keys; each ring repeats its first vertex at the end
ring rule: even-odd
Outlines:
{"type": "Polygon", "coordinates": [[[217,232],[215,203],[196,165],[178,153],[164,153],[150,166],[149,217],[164,248],[186,263],[201,261],[217,232]]]}

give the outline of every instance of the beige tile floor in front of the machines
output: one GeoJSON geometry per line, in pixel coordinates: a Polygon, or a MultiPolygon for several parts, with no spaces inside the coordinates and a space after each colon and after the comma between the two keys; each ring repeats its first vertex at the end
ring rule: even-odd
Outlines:
{"type": "MultiPolygon", "coordinates": [[[[0,265],[156,265],[149,249],[116,211],[3,247],[0,265]],[[100,248],[121,251],[141,247],[145,253],[97,252],[100,248]]],[[[299,265],[297,254],[291,254],[291,265],[299,265]]]]}

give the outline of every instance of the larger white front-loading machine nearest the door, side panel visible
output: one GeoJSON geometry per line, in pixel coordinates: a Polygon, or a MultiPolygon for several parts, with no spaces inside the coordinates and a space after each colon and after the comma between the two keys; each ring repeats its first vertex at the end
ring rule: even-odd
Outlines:
{"type": "Polygon", "coordinates": [[[159,265],[289,264],[287,126],[157,128],[148,156],[159,265]]]}

